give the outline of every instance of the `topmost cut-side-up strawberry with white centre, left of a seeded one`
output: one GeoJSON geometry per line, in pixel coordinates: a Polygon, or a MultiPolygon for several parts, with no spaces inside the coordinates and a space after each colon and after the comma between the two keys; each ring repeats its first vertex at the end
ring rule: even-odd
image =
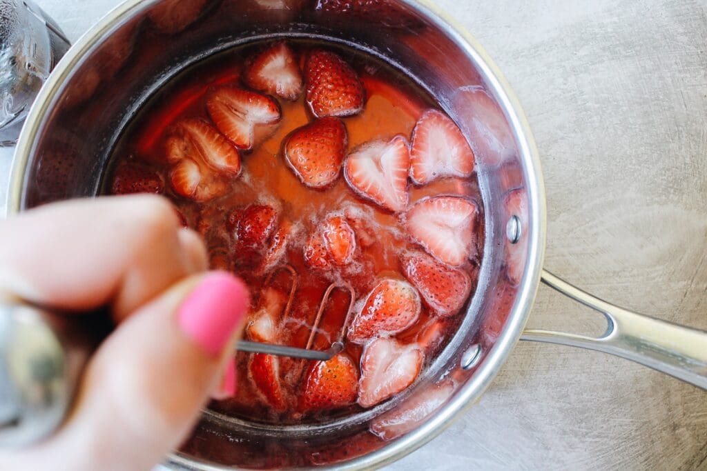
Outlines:
{"type": "Polygon", "coordinates": [[[250,88],[285,100],[297,100],[303,90],[302,75],[293,50],[276,42],[246,64],[243,82],[250,88]]]}

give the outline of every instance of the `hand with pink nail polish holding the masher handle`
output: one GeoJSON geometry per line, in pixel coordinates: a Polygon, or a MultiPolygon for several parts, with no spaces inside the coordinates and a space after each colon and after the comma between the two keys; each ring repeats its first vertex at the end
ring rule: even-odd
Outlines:
{"type": "Polygon", "coordinates": [[[0,469],[148,470],[179,446],[209,396],[233,393],[240,280],[206,273],[206,248],[168,201],[68,201],[0,222],[0,294],[67,311],[110,308],[62,428],[0,469]]]}

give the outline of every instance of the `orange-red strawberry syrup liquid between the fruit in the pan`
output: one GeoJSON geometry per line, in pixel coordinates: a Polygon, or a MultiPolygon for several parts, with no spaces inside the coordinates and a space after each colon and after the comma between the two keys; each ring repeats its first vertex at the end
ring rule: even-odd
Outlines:
{"type": "MultiPolygon", "coordinates": [[[[397,134],[402,134],[410,140],[421,115],[427,109],[439,109],[426,91],[373,56],[329,43],[289,40],[288,44],[300,58],[300,70],[303,70],[304,58],[308,52],[312,48],[323,47],[339,54],[358,73],[366,90],[366,103],[359,114],[341,118],[348,133],[346,154],[373,139],[389,141],[397,134]]],[[[348,282],[353,287],[356,296],[353,316],[361,310],[368,293],[382,278],[405,280],[401,257],[412,250],[420,250],[420,247],[409,239],[401,214],[393,214],[357,196],[345,181],[343,172],[326,189],[312,189],[305,186],[286,165],[283,155],[286,138],[300,126],[312,121],[310,109],[305,104],[305,93],[294,102],[274,97],[281,109],[281,121],[274,130],[269,129],[269,135],[256,134],[257,141],[252,151],[241,152],[242,174],[230,180],[230,188],[225,195],[196,203],[173,191],[169,177],[171,165],[165,157],[165,140],[170,128],[180,119],[201,118],[209,121],[206,109],[209,90],[218,85],[243,87],[240,82],[243,64],[263,46],[262,42],[248,44],[218,54],[183,71],[170,81],[151,98],[124,132],[113,153],[112,165],[115,169],[120,165],[138,162],[161,175],[165,182],[165,196],[173,201],[186,224],[201,232],[206,239],[214,268],[225,268],[244,278],[252,290],[254,308],[259,304],[259,294],[272,269],[262,273],[259,270],[260,258],[251,256],[233,243],[233,227],[229,217],[238,215],[239,211],[250,205],[258,204],[275,208],[280,221],[290,221],[293,237],[279,265],[287,263],[296,270],[298,288],[289,317],[281,319],[278,341],[304,347],[320,300],[332,282],[348,282]],[[354,261],[347,266],[333,265],[325,270],[315,270],[305,263],[303,246],[320,222],[329,215],[346,217],[354,229],[354,261]]],[[[110,192],[111,179],[105,182],[104,186],[108,189],[106,192],[110,192]]],[[[469,178],[438,179],[421,187],[410,183],[409,206],[421,198],[440,194],[464,196],[477,203],[476,256],[461,267],[475,280],[483,246],[483,206],[476,175],[469,178]]],[[[269,284],[286,294],[291,287],[291,277],[281,270],[271,277],[269,284]]],[[[339,336],[349,302],[349,296],[344,290],[333,292],[325,306],[325,314],[315,336],[314,349],[328,348],[339,336]]],[[[416,323],[395,335],[395,338],[403,344],[419,342],[425,351],[425,363],[429,364],[452,337],[461,316],[457,313],[450,317],[438,317],[423,302],[416,323]]],[[[356,365],[361,361],[362,350],[361,345],[346,342],[345,352],[356,365]]],[[[298,395],[303,390],[303,374],[308,365],[300,360],[281,358],[281,381],[290,402],[284,412],[275,411],[259,399],[259,394],[249,380],[246,371],[248,355],[239,353],[238,359],[238,393],[234,398],[212,403],[211,407],[218,412],[259,422],[302,423],[335,419],[363,410],[354,404],[337,410],[301,412],[298,408],[298,395]]]]}

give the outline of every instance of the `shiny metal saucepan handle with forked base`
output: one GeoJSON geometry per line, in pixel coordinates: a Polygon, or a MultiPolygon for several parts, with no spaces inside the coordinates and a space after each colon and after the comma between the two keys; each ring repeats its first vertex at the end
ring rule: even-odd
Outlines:
{"type": "Polygon", "coordinates": [[[614,306],[546,270],[542,282],[604,314],[607,330],[600,337],[526,329],[521,340],[588,348],[626,358],[707,390],[707,332],[661,321],[614,306]]]}

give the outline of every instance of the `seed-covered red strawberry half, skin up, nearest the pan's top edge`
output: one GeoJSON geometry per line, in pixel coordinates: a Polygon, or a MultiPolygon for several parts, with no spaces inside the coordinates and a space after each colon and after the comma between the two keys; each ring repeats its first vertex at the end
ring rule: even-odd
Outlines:
{"type": "Polygon", "coordinates": [[[345,117],[363,109],[366,92],[358,75],[333,52],[310,53],[305,64],[307,104],[315,117],[345,117]]]}

